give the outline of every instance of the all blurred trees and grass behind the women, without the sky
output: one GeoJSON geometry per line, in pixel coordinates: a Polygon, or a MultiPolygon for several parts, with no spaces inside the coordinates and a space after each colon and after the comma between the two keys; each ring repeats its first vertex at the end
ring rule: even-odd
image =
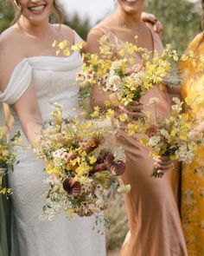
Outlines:
{"type": "MultiPolygon", "coordinates": [[[[94,1],[94,0],[90,0],[94,1]]],[[[80,1],[79,1],[80,2],[80,1]]],[[[182,53],[199,31],[201,1],[195,0],[146,0],[145,11],[153,13],[163,23],[163,43],[171,43],[174,49],[182,53]]],[[[0,0],[0,33],[10,26],[15,12],[9,1],[0,0]]],[[[78,14],[65,16],[65,23],[76,30],[86,40],[90,30],[88,17],[81,19],[78,14]]],[[[112,250],[121,246],[127,231],[124,202],[121,197],[112,195],[105,214],[111,220],[111,229],[107,230],[107,247],[112,250]],[[112,214],[114,213],[114,214],[112,214]]]]}

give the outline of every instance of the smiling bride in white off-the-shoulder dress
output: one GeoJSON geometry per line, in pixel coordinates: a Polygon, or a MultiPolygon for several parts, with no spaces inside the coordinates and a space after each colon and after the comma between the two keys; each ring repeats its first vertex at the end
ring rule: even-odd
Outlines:
{"type": "MultiPolygon", "coordinates": [[[[79,87],[76,72],[80,52],[55,56],[54,39],[79,43],[80,37],[65,25],[49,23],[54,0],[14,0],[16,23],[0,36],[0,102],[11,106],[13,132],[20,130],[29,145],[41,123],[50,117],[50,103],[64,106],[65,116],[77,115],[79,87]],[[76,110],[73,111],[73,108],[76,110]]],[[[46,174],[30,151],[18,150],[19,165],[9,176],[12,194],[11,256],[104,256],[105,237],[92,231],[93,217],[69,221],[59,216],[51,222],[38,220],[46,174]]]]}

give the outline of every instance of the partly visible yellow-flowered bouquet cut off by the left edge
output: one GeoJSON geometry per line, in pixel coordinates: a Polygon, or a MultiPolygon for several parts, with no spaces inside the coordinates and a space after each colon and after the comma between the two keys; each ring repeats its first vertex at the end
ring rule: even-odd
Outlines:
{"type": "Polygon", "coordinates": [[[20,133],[16,133],[10,140],[7,139],[8,130],[5,126],[0,126],[0,194],[9,196],[12,190],[3,187],[3,177],[14,170],[18,163],[14,146],[21,144],[20,133]]]}

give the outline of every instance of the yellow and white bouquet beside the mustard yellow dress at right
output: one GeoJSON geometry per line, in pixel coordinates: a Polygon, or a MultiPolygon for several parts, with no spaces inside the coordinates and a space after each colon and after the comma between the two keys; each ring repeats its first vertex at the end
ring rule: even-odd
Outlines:
{"type": "MultiPolygon", "coordinates": [[[[150,121],[143,129],[140,141],[150,147],[150,154],[154,158],[168,156],[170,160],[190,162],[194,157],[196,148],[201,144],[202,135],[190,132],[196,127],[196,122],[188,113],[182,113],[182,103],[173,98],[172,114],[164,121],[150,121]]],[[[151,176],[162,178],[163,173],[157,173],[155,167],[151,176]]]]}

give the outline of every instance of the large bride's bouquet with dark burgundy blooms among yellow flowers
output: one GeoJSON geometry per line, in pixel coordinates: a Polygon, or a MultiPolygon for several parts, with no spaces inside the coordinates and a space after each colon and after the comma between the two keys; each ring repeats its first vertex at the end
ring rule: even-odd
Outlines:
{"type": "Polygon", "coordinates": [[[45,219],[52,220],[61,212],[72,218],[96,215],[105,209],[105,197],[111,187],[128,192],[120,185],[118,175],[124,173],[124,151],[105,147],[107,128],[96,122],[62,118],[62,106],[54,103],[52,119],[35,143],[35,154],[45,161],[49,190],[44,195],[45,219]]]}

